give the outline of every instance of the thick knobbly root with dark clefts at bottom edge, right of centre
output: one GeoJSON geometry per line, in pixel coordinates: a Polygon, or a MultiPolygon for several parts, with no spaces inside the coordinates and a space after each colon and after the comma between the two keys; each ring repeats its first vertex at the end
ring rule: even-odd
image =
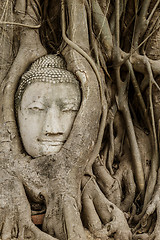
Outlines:
{"type": "MultiPolygon", "coordinates": [[[[82,185],[86,180],[83,179],[82,185]]],[[[105,198],[93,179],[85,187],[82,204],[83,218],[87,219],[87,227],[96,237],[105,240],[114,235],[114,239],[117,240],[131,239],[131,232],[123,213],[105,198]]]]}

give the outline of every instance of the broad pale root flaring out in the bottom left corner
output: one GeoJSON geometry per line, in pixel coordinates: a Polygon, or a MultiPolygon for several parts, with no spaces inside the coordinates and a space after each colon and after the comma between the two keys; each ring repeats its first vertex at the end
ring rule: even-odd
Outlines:
{"type": "Polygon", "coordinates": [[[19,179],[6,170],[1,169],[0,173],[1,239],[9,240],[15,237],[19,240],[57,240],[42,232],[31,221],[30,205],[19,179]]]}

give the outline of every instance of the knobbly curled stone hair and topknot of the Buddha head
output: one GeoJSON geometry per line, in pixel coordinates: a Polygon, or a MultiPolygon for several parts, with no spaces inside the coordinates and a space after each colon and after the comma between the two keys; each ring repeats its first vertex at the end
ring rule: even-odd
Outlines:
{"type": "Polygon", "coordinates": [[[15,95],[16,112],[26,87],[34,82],[73,83],[79,88],[76,76],[69,72],[66,67],[64,59],[56,54],[45,55],[37,59],[20,79],[15,95]]]}

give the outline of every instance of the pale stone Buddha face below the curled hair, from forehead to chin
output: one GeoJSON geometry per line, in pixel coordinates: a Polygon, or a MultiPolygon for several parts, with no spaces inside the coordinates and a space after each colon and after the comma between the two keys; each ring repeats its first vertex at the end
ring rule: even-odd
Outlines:
{"type": "Polygon", "coordinates": [[[35,82],[18,108],[18,123],[26,152],[32,157],[60,151],[80,105],[80,90],[72,83],[35,82]]]}

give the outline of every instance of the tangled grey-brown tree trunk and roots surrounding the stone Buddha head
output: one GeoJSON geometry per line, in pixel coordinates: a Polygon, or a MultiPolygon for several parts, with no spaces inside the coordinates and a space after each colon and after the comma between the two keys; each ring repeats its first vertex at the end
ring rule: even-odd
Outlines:
{"type": "Polygon", "coordinates": [[[1,0],[0,239],[160,240],[159,76],[159,0],[1,0]],[[14,98],[47,54],[82,100],[61,150],[33,158],[14,98]]]}

